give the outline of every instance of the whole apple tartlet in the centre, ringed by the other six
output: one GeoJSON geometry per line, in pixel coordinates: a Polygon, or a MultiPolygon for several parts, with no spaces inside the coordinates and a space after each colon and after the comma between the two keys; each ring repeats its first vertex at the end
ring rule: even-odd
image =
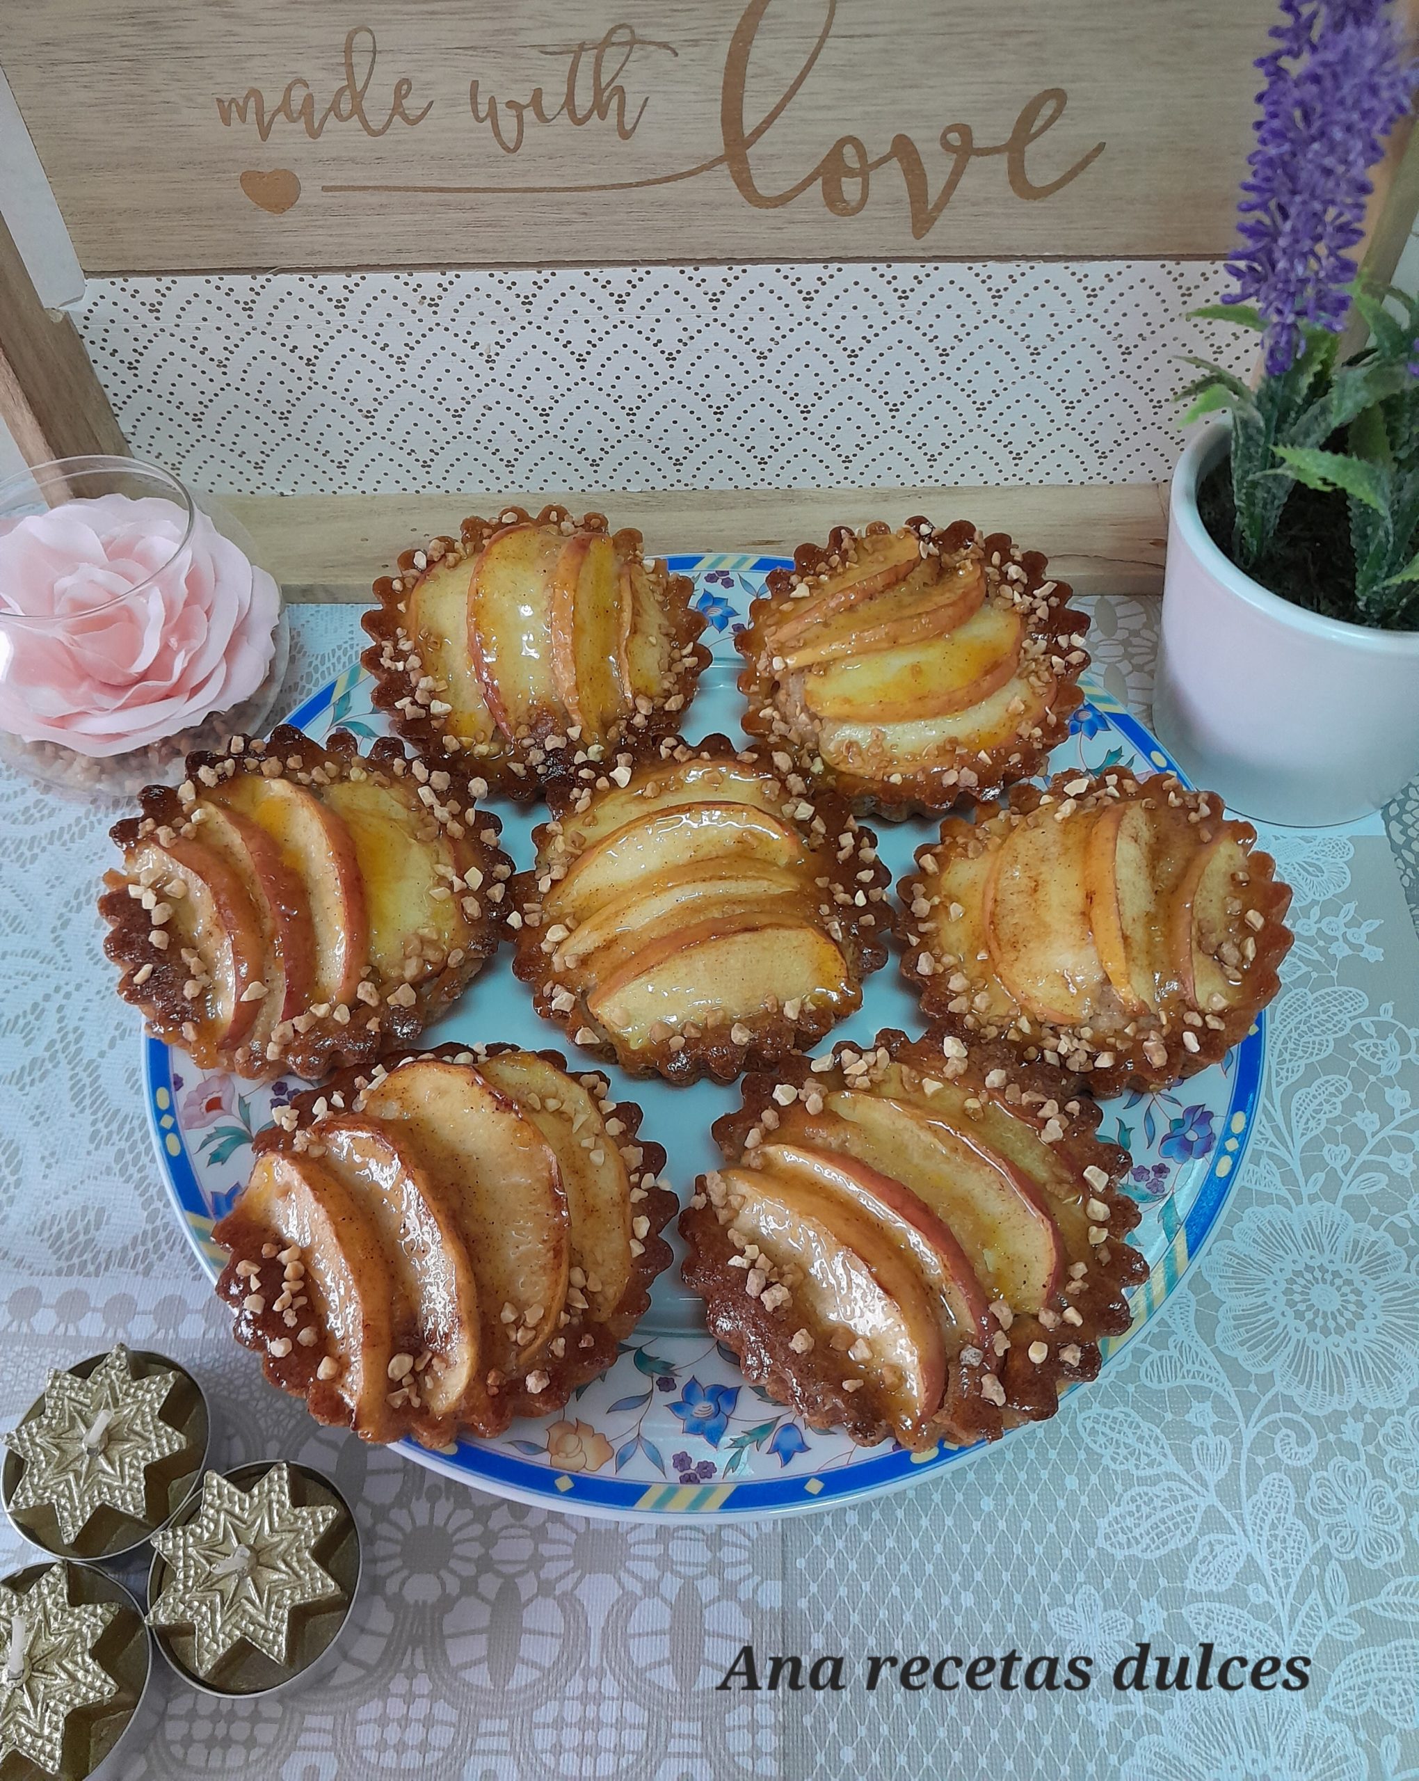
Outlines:
{"type": "Polygon", "coordinates": [[[538,1013],[632,1076],[730,1081],[821,1038],[887,960],[876,837],[787,757],[666,737],[548,782],[513,880],[538,1013]]]}

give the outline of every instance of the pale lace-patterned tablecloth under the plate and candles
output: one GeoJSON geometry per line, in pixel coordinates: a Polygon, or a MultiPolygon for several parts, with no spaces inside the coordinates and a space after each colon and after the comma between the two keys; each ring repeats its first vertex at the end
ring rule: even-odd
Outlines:
{"type": "MultiPolygon", "coordinates": [[[[294,613],[290,703],[349,607],[294,613]]],[[[1095,602],[1147,714],[1155,604],[1095,602]]],[[[110,816],[0,775],[0,1418],[123,1338],[189,1364],[215,1462],[276,1453],[358,1507],[367,1592],[310,1697],[162,1678],[135,1777],[280,1781],[1415,1781],[1419,1776],[1419,803],[1271,832],[1296,946],[1259,1127],[1216,1241],[1052,1423],[864,1509],[616,1526],[479,1496],[317,1430],[239,1350],[167,1209],[137,1024],[93,908],[110,816]],[[1401,883],[1403,876],[1403,883],[1401,883]],[[1310,1656],[1305,1694],[1131,1694],[1154,1651],[1310,1656]],[[716,1683],[744,1644],[840,1655],[842,1692],[716,1683]],[[1088,1653],[1084,1694],[867,1694],[867,1656],[1088,1653]],[[1225,1649],[1223,1649],[1225,1647],[1225,1649]]],[[[4,1528],[0,1558],[27,1549],[4,1528]]]]}

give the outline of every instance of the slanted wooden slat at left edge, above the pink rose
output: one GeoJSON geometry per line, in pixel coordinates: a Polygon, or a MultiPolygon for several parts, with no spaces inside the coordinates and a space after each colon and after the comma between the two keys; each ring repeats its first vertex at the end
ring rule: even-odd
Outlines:
{"type": "Polygon", "coordinates": [[[0,219],[0,422],[25,463],[128,451],[78,329],[46,310],[0,219]]]}

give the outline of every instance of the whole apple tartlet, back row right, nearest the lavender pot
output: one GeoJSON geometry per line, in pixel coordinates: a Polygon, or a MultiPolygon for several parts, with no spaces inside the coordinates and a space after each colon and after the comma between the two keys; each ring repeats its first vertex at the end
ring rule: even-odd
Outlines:
{"type": "Polygon", "coordinates": [[[1082,703],[1088,618],[1004,533],[839,527],[766,586],[735,638],[744,728],[862,814],[945,810],[1029,778],[1082,703]]]}

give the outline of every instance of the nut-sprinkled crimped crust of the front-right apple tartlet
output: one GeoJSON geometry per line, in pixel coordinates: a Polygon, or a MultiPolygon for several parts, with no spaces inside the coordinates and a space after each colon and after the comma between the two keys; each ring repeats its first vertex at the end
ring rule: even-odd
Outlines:
{"type": "MultiPolygon", "coordinates": [[[[814,1428],[842,1427],[864,1446],[896,1437],[924,1450],[937,1441],[993,1441],[1008,1427],[1052,1416],[1065,1386],[1097,1377],[1099,1341],[1129,1327],[1125,1288],[1145,1279],[1147,1263],[1123,1241],[1139,1220],[1118,1188],[1129,1154],[1097,1138],[1100,1110],[1077,1078],[1026,1063],[999,1042],[967,1045],[940,1028],[908,1040],[887,1029],[869,1049],[837,1044],[812,1061],[785,1058],[771,1074],[746,1076],[742,1094],[742,1108],[714,1124],[728,1174],[696,1181],[680,1232],[689,1247],[684,1279],[703,1297],[710,1332],[734,1348],[746,1378],[814,1428]],[[883,1403],[856,1332],[810,1327],[801,1275],[737,1229],[734,1172],[762,1170],[767,1156],[773,1174],[785,1140],[826,1143],[821,1120],[833,1120],[830,1101],[840,1092],[896,1097],[977,1143],[992,1136],[985,1120],[1010,1115],[1024,1145],[1049,1152],[1042,1193],[1059,1232],[1058,1284],[1029,1311],[995,1297],[977,1325],[958,1323],[940,1402],[912,1421],[883,1403]]],[[[981,1297],[988,1293],[983,1282],[981,1297]]]]}

